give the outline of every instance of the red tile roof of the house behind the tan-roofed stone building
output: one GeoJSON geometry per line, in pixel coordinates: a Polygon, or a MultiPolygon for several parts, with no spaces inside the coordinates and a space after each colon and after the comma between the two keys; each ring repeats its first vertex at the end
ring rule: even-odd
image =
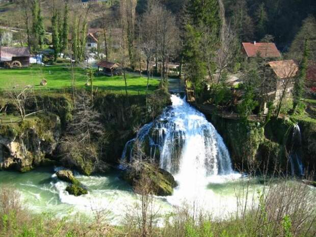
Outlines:
{"type": "Polygon", "coordinates": [[[281,54],[275,43],[242,43],[243,52],[247,58],[262,57],[262,58],[280,58],[281,54]]]}

